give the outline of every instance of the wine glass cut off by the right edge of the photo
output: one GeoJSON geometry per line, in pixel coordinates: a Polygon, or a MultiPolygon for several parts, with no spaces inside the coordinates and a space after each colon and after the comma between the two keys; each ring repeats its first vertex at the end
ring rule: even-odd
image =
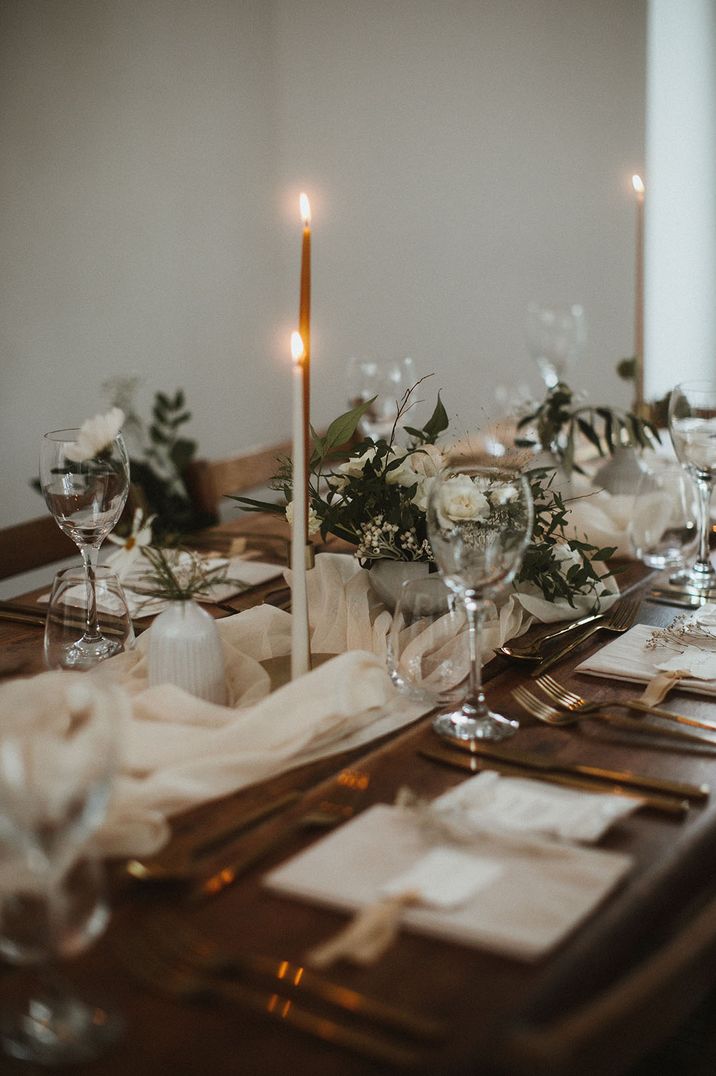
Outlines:
{"type": "Polygon", "coordinates": [[[699,550],[686,584],[701,593],[716,584],[711,563],[711,494],[716,476],[716,382],[685,381],[669,398],[669,433],[676,457],[699,494],[699,550]]]}

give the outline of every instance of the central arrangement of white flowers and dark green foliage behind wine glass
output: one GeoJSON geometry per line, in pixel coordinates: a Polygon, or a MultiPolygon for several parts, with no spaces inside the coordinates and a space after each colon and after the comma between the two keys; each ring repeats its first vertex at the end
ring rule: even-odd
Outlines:
{"type": "MultiPolygon", "coordinates": [[[[364,567],[379,560],[433,562],[426,527],[427,496],[446,463],[446,454],[436,442],[449,422],[438,394],[429,421],[421,427],[403,426],[410,440],[406,447],[397,443],[396,431],[412,405],[416,387],[408,390],[398,402],[393,429],[387,439],[362,441],[348,455],[336,454],[337,448],[354,436],[370,400],[336,419],[324,437],[313,436],[309,482],[311,529],[320,530],[324,538],[335,535],[349,542],[364,567]]],[[[551,489],[552,472],[539,467],[525,473],[534,502],[534,525],[516,577],[518,590],[542,595],[548,601],[563,599],[571,607],[577,596],[596,604],[607,593],[603,584],[608,575],[604,562],[614,555],[615,548],[600,549],[567,537],[568,509],[560,493],[551,489]]],[[[271,486],[283,494],[282,504],[239,496],[234,499],[249,511],[281,514],[287,511],[290,516],[290,459],[279,461],[271,486]]],[[[465,511],[479,507],[475,502],[481,496],[479,491],[465,486],[460,494],[455,493],[455,510],[461,498],[465,511]]]]}

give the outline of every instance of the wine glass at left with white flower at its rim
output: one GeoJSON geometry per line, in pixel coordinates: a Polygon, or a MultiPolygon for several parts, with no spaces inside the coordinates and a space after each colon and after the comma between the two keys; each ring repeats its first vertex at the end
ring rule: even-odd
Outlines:
{"type": "Polygon", "coordinates": [[[100,453],[76,461],[79,429],[45,434],[40,449],[40,484],[55,522],[82,554],[87,585],[84,632],[74,642],[73,668],[89,668],[117,653],[115,639],[97,620],[95,572],[99,548],[116,525],[129,492],[129,458],[122,434],[100,453]]]}

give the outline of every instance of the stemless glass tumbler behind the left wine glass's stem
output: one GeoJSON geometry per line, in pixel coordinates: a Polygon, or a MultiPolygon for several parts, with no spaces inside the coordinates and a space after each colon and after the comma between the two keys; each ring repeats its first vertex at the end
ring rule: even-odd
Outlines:
{"type": "Polygon", "coordinates": [[[88,595],[84,568],[65,568],[53,582],[45,621],[45,664],[51,669],[93,668],[135,645],[135,631],[127,598],[116,572],[108,567],[95,569],[97,618],[107,647],[98,653],[84,645],[88,595]]]}

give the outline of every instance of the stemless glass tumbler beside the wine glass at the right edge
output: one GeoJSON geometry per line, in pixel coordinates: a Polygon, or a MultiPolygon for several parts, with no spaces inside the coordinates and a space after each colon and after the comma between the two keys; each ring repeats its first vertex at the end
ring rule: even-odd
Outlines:
{"type": "Polygon", "coordinates": [[[644,471],[628,530],[634,556],[649,568],[680,568],[693,556],[699,500],[690,476],[678,464],[664,462],[644,471]]]}

